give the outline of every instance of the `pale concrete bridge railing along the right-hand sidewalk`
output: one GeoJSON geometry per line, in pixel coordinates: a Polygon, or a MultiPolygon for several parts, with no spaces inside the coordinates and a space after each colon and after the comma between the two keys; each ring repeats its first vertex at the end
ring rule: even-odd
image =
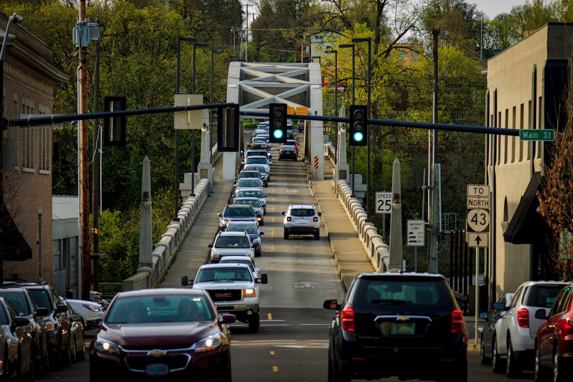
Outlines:
{"type": "MultiPolygon", "coordinates": [[[[331,143],[324,144],[325,155],[334,163],[335,151],[331,143]]],[[[352,197],[352,188],[348,186],[346,180],[333,180],[335,187],[335,195],[338,196],[340,203],[344,206],[344,210],[348,214],[352,225],[356,229],[356,234],[360,238],[364,250],[372,266],[376,271],[382,272],[388,270],[390,266],[390,251],[388,245],[382,240],[382,236],[378,234],[378,230],[373,223],[367,222],[366,211],[358,199],[352,197]]]]}

